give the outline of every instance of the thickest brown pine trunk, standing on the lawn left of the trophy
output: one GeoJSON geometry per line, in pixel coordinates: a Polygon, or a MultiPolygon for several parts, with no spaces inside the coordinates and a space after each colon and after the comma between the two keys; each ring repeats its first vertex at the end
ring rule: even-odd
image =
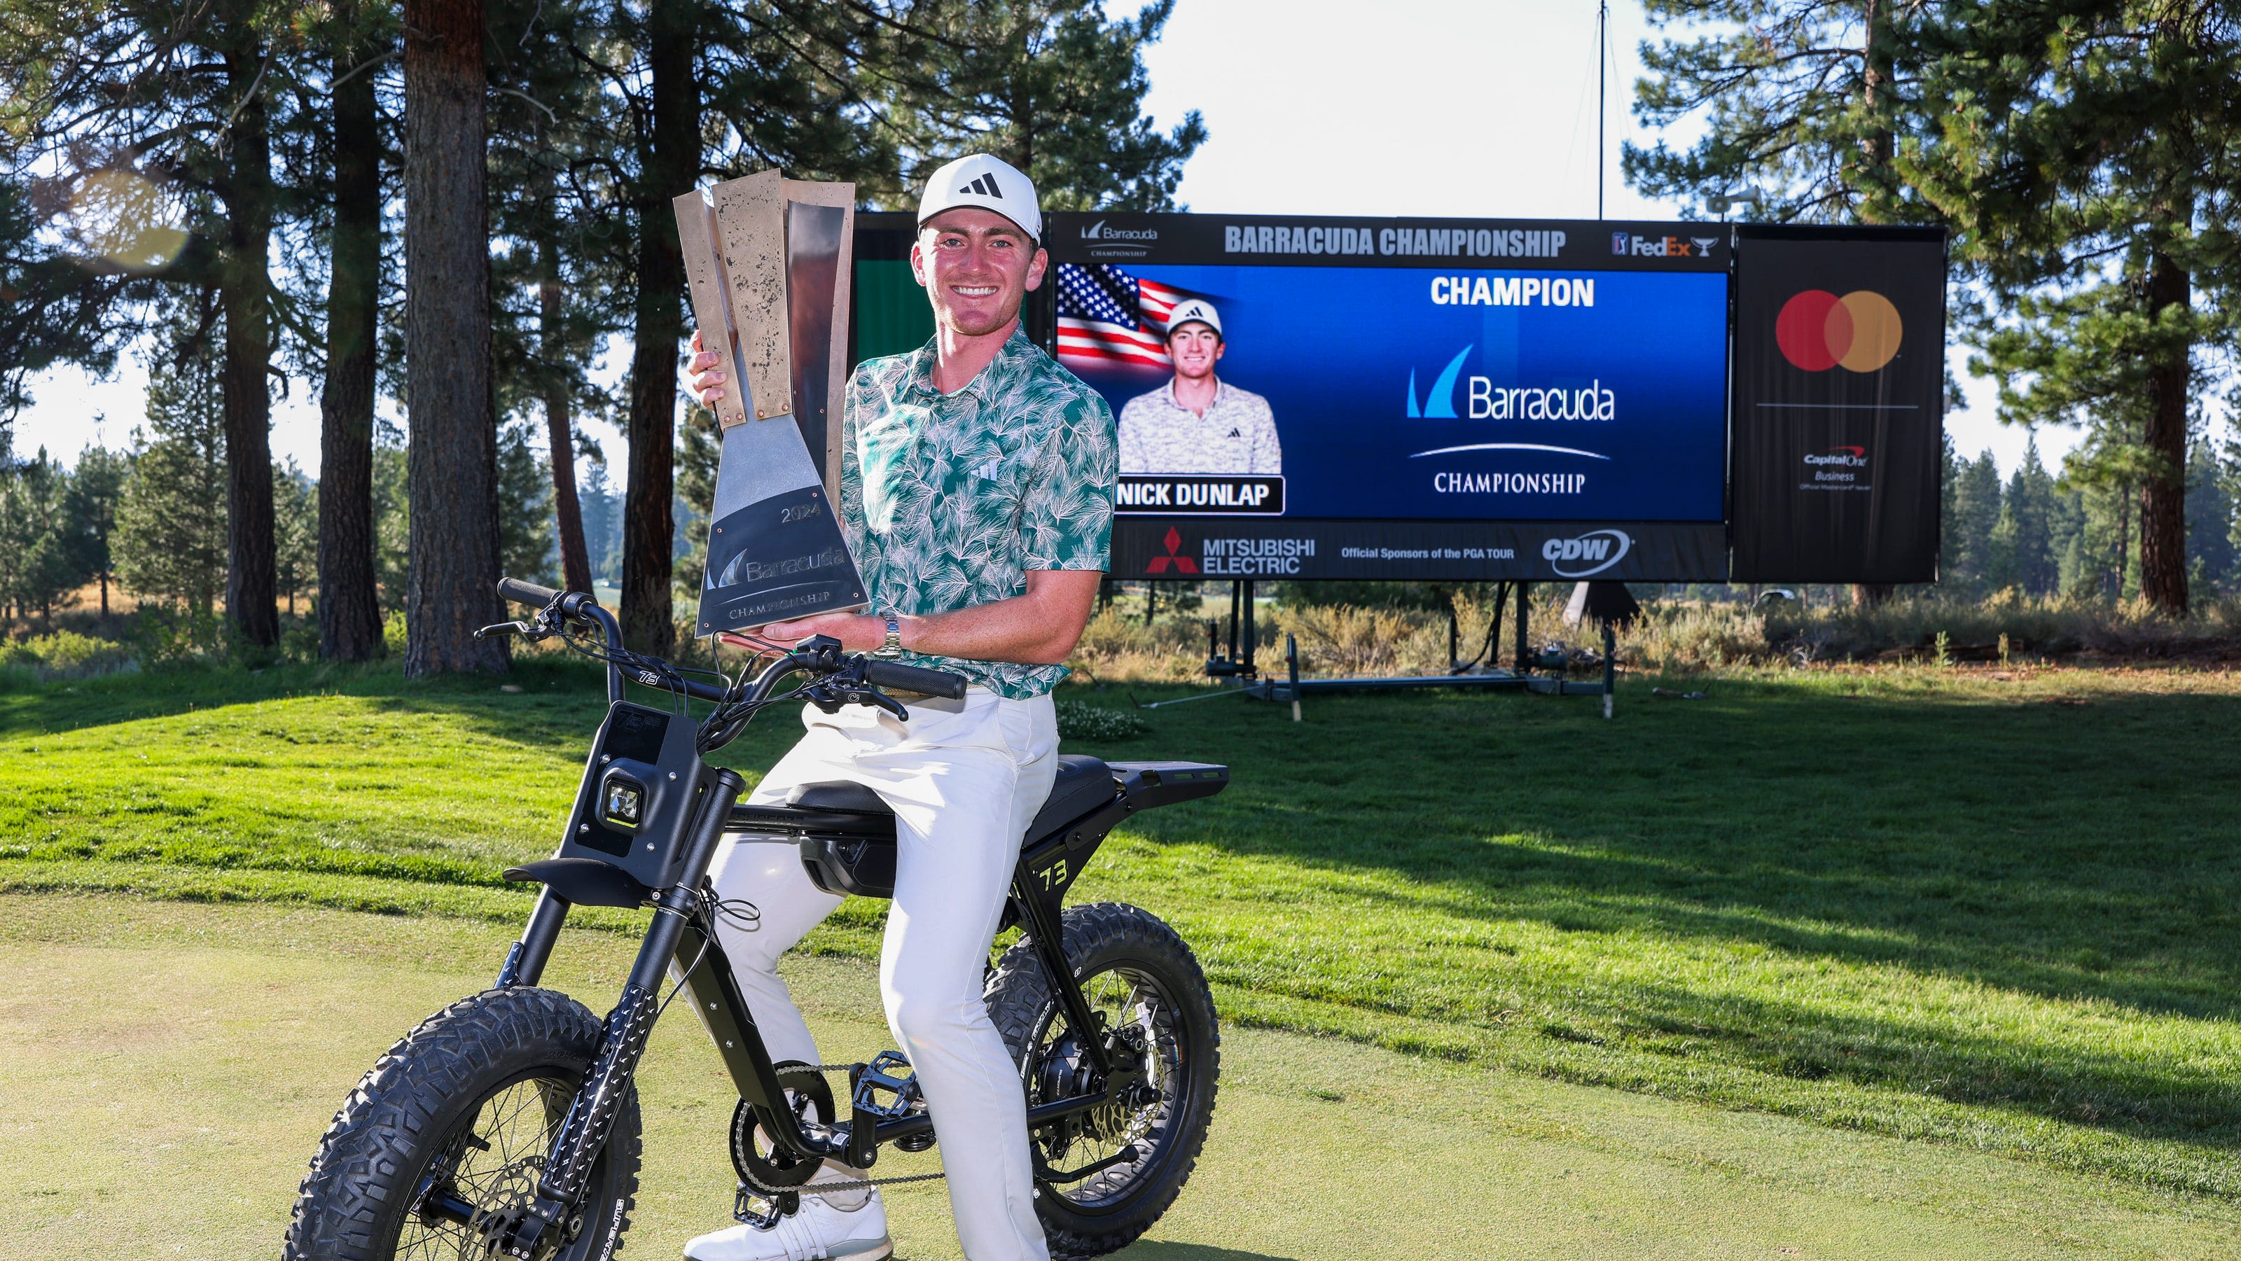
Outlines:
{"type": "Polygon", "coordinates": [[[406,0],[406,676],[506,667],[484,204],[482,0],[406,0]]]}

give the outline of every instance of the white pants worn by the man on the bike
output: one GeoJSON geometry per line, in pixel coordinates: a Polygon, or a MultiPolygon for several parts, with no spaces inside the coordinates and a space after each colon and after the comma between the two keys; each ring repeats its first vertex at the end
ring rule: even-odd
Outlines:
{"type": "MultiPolygon", "coordinates": [[[[908,723],[867,706],[838,714],[805,708],[809,735],[748,802],[780,804],[796,784],[854,779],[894,809],[894,905],[878,992],[934,1115],[957,1241],[970,1261],[1047,1261],[1026,1093],[982,1003],[982,977],[1022,833],[1058,777],[1056,708],[1049,697],[1006,701],[984,688],[908,708],[908,723]]],[[[753,930],[719,921],[717,938],[771,1057],[818,1064],[809,1026],[778,979],[778,956],[840,896],[809,882],[793,844],[744,838],[717,851],[710,880],[719,896],[762,912],[753,930]]]]}

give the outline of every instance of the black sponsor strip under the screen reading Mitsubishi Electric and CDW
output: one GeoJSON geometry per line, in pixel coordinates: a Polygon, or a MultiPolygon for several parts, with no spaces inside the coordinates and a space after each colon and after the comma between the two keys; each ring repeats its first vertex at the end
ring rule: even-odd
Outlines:
{"type": "Polygon", "coordinates": [[[1307,522],[1118,517],[1114,578],[1719,582],[1719,522],[1307,522]]]}

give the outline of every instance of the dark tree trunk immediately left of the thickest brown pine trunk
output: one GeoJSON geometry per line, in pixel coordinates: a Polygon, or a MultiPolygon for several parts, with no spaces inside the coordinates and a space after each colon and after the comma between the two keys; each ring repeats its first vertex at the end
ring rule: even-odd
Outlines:
{"type": "MultiPolygon", "coordinates": [[[[336,11],[347,31],[356,13],[336,11]]],[[[341,78],[374,49],[345,36],[341,78]]],[[[374,74],[334,90],[334,244],[327,278],[327,383],[318,396],[318,654],[381,652],[374,594],[374,323],[381,284],[381,132],[374,74]]]]}

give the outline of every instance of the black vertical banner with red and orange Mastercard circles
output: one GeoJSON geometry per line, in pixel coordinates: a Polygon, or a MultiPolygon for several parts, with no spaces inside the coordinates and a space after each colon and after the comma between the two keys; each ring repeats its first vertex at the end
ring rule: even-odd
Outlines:
{"type": "Polygon", "coordinates": [[[1741,226],[1735,278],[1735,580],[1934,582],[1945,233],[1741,226]]]}

